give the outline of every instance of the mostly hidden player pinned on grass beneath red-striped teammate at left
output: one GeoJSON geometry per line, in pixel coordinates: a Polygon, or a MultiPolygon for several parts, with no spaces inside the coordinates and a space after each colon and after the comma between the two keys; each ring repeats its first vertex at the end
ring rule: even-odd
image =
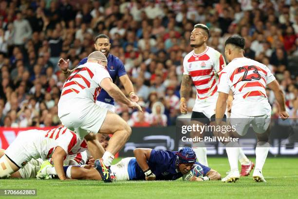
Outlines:
{"type": "MultiPolygon", "coordinates": [[[[102,147],[106,149],[109,144],[110,137],[104,134],[97,134],[96,136],[99,143],[102,145],[102,147]]],[[[5,153],[5,150],[0,149],[0,157],[4,155],[4,153],[5,153]]],[[[88,163],[88,159],[91,159],[91,161],[93,160],[94,162],[93,157],[89,156],[88,149],[87,149],[86,151],[83,151],[81,153],[66,156],[66,159],[63,160],[63,165],[84,165],[88,163]]],[[[50,162],[53,163],[53,159],[49,159],[49,160],[50,162]]],[[[40,168],[42,168],[43,164],[45,164],[44,160],[40,158],[31,159],[23,168],[11,174],[11,178],[39,179],[39,176],[37,176],[37,172],[39,171],[40,168]]],[[[53,167],[53,169],[55,170],[55,167],[53,167]]],[[[56,171],[55,171],[55,174],[56,174],[56,171]]]]}

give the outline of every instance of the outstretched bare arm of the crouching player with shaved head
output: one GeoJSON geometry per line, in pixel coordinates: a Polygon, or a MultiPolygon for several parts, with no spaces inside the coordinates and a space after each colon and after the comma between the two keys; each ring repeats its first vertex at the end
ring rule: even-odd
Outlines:
{"type": "Polygon", "coordinates": [[[118,88],[118,86],[116,84],[114,84],[112,82],[112,80],[110,78],[104,78],[101,82],[100,82],[100,86],[108,92],[108,94],[115,99],[116,101],[122,102],[126,105],[128,105],[128,107],[130,108],[138,108],[140,111],[142,111],[142,108],[139,104],[137,104],[136,102],[132,102],[130,101],[125,95],[124,93],[122,93],[122,91],[118,88]]]}

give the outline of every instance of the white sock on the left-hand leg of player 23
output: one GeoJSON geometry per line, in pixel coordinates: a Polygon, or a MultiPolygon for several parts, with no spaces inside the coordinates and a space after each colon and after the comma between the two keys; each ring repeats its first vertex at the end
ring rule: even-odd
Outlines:
{"type": "Polygon", "coordinates": [[[229,142],[226,144],[226,154],[229,159],[231,172],[232,171],[239,171],[238,170],[238,157],[239,157],[239,147],[238,143],[236,142],[229,142]]]}

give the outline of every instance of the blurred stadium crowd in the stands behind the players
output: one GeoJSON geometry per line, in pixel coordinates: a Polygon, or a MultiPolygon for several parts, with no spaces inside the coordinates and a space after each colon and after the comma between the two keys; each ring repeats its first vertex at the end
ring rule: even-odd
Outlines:
{"type": "MultiPolygon", "coordinates": [[[[144,109],[132,113],[116,104],[116,113],[130,126],[175,124],[183,59],[192,50],[196,23],[210,28],[208,45],[223,55],[229,36],[244,37],[245,56],[270,68],[290,118],[297,118],[296,0],[1,0],[0,126],[59,125],[65,77],[58,59],[70,59],[74,68],[93,51],[98,34],[110,37],[110,53],[123,61],[144,109]]],[[[278,117],[274,95],[267,95],[278,117]]],[[[193,89],[188,112],[195,98],[193,89]]]]}

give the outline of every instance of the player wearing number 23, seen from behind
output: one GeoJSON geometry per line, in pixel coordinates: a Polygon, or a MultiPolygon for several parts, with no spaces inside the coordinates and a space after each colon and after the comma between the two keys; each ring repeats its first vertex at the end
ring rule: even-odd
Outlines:
{"type": "MultiPolygon", "coordinates": [[[[244,136],[252,124],[257,133],[256,167],[253,179],[265,182],[262,167],[265,163],[268,150],[269,124],[271,119],[271,106],[266,96],[265,87],[274,92],[279,103],[279,116],[281,119],[289,117],[285,109],[285,100],[278,81],[269,68],[264,64],[244,57],[245,40],[240,36],[231,36],[225,41],[225,56],[229,64],[223,69],[218,87],[218,100],[216,104],[216,122],[221,125],[226,109],[226,100],[230,90],[234,94],[231,108],[230,123],[236,127],[236,132],[244,136]],[[236,125],[237,123],[237,125],[236,125]]],[[[227,143],[226,153],[230,163],[230,172],[222,179],[223,182],[232,182],[239,179],[238,171],[238,143],[227,143]],[[232,147],[234,146],[234,147],[232,147]]]]}

